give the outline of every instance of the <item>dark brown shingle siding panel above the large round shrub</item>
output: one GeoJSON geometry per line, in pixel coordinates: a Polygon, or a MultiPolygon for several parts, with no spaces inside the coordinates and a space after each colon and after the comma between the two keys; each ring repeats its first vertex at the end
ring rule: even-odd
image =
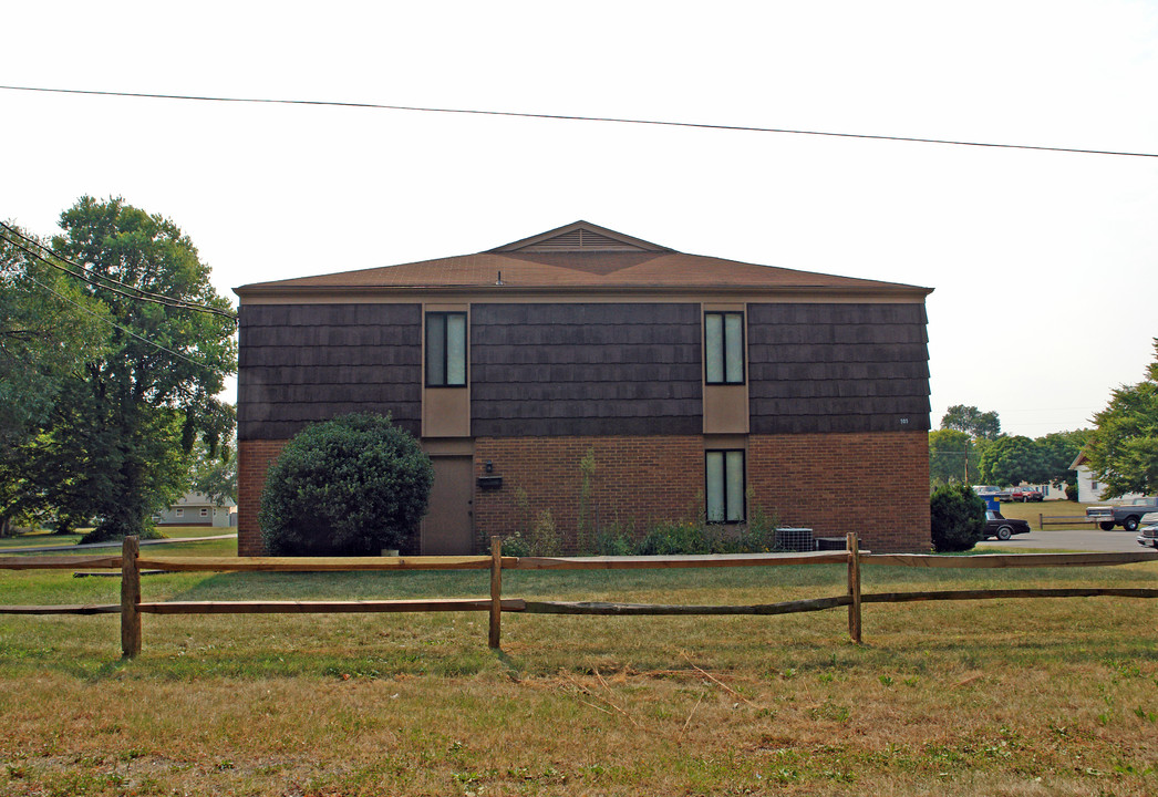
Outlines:
{"type": "Polygon", "coordinates": [[[419,305],[242,305],[239,328],[242,440],[284,440],[349,412],[389,412],[418,434],[419,305]]]}

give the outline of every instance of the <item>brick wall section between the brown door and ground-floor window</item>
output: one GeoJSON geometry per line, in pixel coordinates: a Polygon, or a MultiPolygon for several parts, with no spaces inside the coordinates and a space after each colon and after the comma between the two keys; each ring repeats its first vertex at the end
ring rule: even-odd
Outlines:
{"type": "Polygon", "coordinates": [[[594,452],[595,473],[586,526],[607,531],[635,520],[642,533],[660,520],[692,519],[703,502],[704,444],[698,436],[681,437],[533,437],[477,438],[476,475],[488,461],[503,488],[475,492],[475,533],[479,550],[488,538],[516,529],[525,534],[533,518],[550,510],[564,541],[576,549],[582,473],[579,462],[594,452]],[[527,496],[520,506],[519,491],[527,496]]]}

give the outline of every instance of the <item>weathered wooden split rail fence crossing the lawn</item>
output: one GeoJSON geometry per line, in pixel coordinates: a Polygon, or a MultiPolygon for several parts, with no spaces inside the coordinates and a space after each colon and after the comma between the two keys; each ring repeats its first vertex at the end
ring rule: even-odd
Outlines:
{"type": "Polygon", "coordinates": [[[141,556],[137,538],[126,538],[119,556],[7,556],[0,570],[120,570],[120,602],[56,606],[0,606],[0,614],[120,614],[120,648],[125,657],[141,651],[142,614],[303,614],[373,612],[488,612],[488,643],[498,648],[504,612],[528,614],[592,615],[775,615],[848,607],[849,636],[862,642],[862,607],[865,604],[900,604],[928,600],[988,600],[1002,598],[1077,598],[1113,595],[1158,598],[1158,588],[1135,587],[1038,587],[1024,590],[937,590],[923,592],[862,591],[864,565],[913,568],[1065,568],[1158,562],[1158,550],[1131,554],[982,554],[935,556],[925,554],[872,554],[859,550],[856,534],[846,538],[843,551],[802,554],[714,554],[703,556],[503,556],[499,538],[491,538],[490,556],[395,556],[395,557],[173,557],[141,556]],[[804,564],[845,564],[848,590],[827,598],[756,605],[664,605],[603,601],[532,601],[503,598],[504,570],[644,570],[670,568],[745,568],[804,564]],[[349,572],[394,570],[490,570],[489,597],[428,598],[416,600],[210,600],[161,601],[141,599],[141,570],[169,572],[349,572]]]}

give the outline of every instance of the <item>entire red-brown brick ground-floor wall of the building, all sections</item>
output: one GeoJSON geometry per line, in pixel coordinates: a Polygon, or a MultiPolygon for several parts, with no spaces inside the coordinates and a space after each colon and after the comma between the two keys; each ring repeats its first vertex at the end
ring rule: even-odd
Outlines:
{"type": "MultiPolygon", "coordinates": [[[[265,470],[285,440],[242,440],[239,446],[237,553],[259,556],[257,525],[265,470]]],[[[477,438],[475,475],[503,476],[503,488],[475,488],[478,550],[492,534],[528,531],[550,510],[566,553],[577,544],[582,473],[594,453],[586,525],[620,524],[643,534],[661,520],[692,519],[702,511],[704,444],[699,436],[477,438]],[[522,491],[527,500],[520,505],[522,491]],[[528,512],[529,507],[529,512],[528,512]]],[[[749,511],[758,503],[784,525],[816,536],[860,535],[864,548],[929,550],[929,446],[924,432],[753,434],[748,439],[749,511]]]]}

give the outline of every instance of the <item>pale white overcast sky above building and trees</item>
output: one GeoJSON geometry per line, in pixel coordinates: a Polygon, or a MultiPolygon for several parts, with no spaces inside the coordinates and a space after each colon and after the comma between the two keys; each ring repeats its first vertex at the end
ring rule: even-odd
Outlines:
{"type": "MultiPolygon", "coordinates": [[[[37,2],[0,83],[1158,152],[1158,2],[37,2]]],[[[1087,425],[1158,336],[1158,159],[0,90],[0,218],[176,221],[219,291],[578,219],[936,288],[932,423],[1087,425]]]]}

